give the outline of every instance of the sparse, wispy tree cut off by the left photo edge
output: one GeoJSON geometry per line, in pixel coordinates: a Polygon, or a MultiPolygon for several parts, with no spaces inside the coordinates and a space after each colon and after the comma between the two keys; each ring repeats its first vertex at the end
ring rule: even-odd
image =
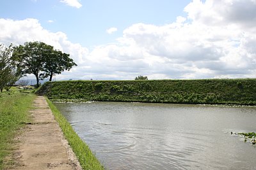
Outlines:
{"type": "Polygon", "coordinates": [[[15,81],[19,80],[20,68],[13,58],[13,45],[0,45],[0,90],[10,90],[15,81]]]}

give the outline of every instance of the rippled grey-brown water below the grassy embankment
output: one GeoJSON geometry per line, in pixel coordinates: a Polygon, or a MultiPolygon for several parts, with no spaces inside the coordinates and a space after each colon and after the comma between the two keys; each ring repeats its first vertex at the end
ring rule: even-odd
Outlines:
{"type": "Polygon", "coordinates": [[[256,108],[54,103],[108,169],[255,169],[256,108]]]}

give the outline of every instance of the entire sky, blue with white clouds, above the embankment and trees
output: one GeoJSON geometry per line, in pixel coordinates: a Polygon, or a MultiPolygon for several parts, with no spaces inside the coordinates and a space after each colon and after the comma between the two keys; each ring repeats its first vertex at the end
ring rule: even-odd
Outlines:
{"type": "Polygon", "coordinates": [[[0,43],[42,41],[56,80],[255,78],[256,0],[1,0],[0,43]]]}

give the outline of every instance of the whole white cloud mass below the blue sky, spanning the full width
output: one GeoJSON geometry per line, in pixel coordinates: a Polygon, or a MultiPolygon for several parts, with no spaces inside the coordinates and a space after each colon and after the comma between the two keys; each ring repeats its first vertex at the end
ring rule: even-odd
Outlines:
{"type": "Polygon", "coordinates": [[[256,73],[255,5],[255,0],[194,0],[184,9],[186,17],[161,26],[133,24],[117,43],[91,51],[63,32],[45,30],[38,20],[0,19],[0,42],[44,41],[70,53],[79,66],[59,79],[250,78],[256,73]]]}

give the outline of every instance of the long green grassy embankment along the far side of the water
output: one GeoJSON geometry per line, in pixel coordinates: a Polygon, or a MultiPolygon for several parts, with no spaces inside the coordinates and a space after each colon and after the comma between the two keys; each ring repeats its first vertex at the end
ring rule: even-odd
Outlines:
{"type": "Polygon", "coordinates": [[[55,81],[46,96],[51,101],[256,105],[255,93],[256,79],[55,81]]]}

